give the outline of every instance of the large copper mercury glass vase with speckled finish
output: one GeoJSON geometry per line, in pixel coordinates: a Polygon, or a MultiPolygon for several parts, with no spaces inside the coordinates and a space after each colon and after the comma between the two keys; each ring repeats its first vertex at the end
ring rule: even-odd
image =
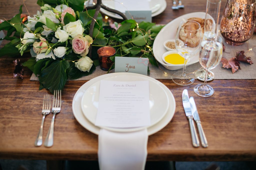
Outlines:
{"type": "Polygon", "coordinates": [[[256,0],[227,0],[220,32],[226,43],[242,45],[252,37],[255,22],[256,0]]]}

